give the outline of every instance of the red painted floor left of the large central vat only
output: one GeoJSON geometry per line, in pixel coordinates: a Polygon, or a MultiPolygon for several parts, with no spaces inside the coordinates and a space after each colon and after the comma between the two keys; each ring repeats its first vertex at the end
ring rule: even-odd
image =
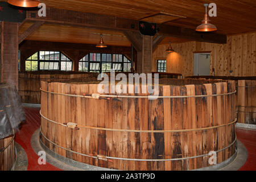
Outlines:
{"type": "Polygon", "coordinates": [[[26,123],[22,125],[19,132],[16,133],[15,142],[19,143],[27,153],[28,158],[28,171],[60,171],[61,169],[52,166],[49,163],[39,165],[38,158],[31,147],[32,134],[40,127],[41,119],[39,114],[40,109],[24,108],[26,113],[26,123]]]}

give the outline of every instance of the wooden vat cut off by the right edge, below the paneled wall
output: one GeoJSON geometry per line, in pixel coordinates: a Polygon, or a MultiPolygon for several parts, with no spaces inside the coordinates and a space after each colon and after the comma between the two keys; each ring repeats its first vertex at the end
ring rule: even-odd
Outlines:
{"type": "Polygon", "coordinates": [[[238,80],[237,121],[256,125],[256,80],[238,80]]]}

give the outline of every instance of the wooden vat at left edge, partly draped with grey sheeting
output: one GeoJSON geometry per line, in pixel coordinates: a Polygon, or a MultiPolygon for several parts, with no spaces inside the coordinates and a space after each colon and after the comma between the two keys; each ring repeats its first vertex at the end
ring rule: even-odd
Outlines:
{"type": "Polygon", "coordinates": [[[15,86],[0,83],[0,171],[10,170],[14,166],[15,131],[24,119],[15,86]]]}

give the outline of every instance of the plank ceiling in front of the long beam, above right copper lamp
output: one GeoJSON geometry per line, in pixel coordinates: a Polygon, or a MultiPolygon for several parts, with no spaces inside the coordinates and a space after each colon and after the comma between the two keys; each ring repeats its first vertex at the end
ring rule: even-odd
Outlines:
{"type": "Polygon", "coordinates": [[[142,19],[161,11],[185,16],[166,24],[195,29],[204,17],[204,3],[217,5],[217,17],[210,17],[218,34],[236,34],[256,30],[256,1],[248,0],[40,0],[47,7],[142,19]]]}

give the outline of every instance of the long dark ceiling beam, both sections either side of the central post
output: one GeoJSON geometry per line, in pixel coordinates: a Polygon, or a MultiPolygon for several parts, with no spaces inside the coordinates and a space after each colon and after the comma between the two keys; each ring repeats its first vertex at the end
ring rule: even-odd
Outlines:
{"type": "MultiPolygon", "coordinates": [[[[46,17],[39,17],[37,11],[27,11],[26,19],[76,27],[139,32],[139,20],[54,8],[47,8],[46,14],[46,17]]],[[[160,35],[174,36],[199,42],[226,43],[226,35],[222,34],[197,32],[191,28],[176,27],[166,24],[157,24],[156,26],[159,28],[158,33],[160,35]]]]}

